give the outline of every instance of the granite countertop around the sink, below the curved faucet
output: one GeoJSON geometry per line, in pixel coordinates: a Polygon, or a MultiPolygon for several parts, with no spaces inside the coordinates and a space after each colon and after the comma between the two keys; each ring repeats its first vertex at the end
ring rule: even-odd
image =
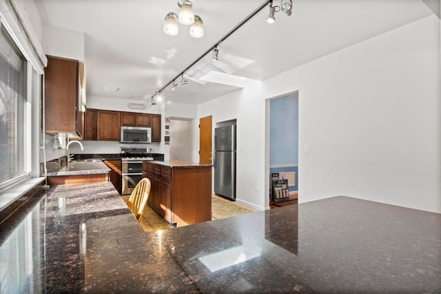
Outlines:
{"type": "MultiPolygon", "coordinates": [[[[46,162],[46,167],[48,176],[107,174],[110,172],[110,168],[101,160],[46,162]]],[[[41,176],[44,176],[44,173],[41,176]]]]}

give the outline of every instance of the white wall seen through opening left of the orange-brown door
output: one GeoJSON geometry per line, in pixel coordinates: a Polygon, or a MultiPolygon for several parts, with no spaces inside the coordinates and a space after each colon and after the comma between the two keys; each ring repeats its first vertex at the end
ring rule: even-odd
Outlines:
{"type": "Polygon", "coordinates": [[[170,159],[192,161],[193,136],[191,121],[170,120],[170,159]]]}

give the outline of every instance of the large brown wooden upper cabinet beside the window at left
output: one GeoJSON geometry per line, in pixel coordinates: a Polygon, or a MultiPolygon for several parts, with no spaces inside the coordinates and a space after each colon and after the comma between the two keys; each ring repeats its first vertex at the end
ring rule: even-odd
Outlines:
{"type": "Polygon", "coordinates": [[[45,132],[83,137],[83,76],[79,61],[48,56],[44,79],[45,132]]]}

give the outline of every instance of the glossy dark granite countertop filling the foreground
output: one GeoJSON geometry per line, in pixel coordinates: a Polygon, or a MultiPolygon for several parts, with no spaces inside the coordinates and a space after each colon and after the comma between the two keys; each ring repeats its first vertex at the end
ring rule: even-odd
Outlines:
{"type": "Polygon", "coordinates": [[[335,197],[146,233],[110,183],[40,197],[0,222],[2,291],[441,292],[437,213],[335,197]]]}

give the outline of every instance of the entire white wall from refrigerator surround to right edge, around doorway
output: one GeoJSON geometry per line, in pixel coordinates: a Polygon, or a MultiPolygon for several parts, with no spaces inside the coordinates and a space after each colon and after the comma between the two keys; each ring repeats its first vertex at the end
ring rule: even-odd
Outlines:
{"type": "MultiPolygon", "coordinates": [[[[299,91],[299,202],[352,196],[441,212],[440,21],[434,15],[198,107],[237,118],[237,200],[267,207],[265,99],[299,91]],[[263,186],[265,185],[265,190],[263,186]]],[[[194,153],[194,157],[197,156],[194,153]]]]}

